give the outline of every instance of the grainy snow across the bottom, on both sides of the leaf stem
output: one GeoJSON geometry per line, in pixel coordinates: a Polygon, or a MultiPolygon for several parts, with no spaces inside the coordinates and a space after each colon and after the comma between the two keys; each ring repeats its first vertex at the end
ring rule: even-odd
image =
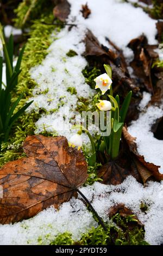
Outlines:
{"type": "MultiPolygon", "coordinates": [[[[145,239],[151,245],[163,241],[163,182],[149,182],[141,185],[133,176],[128,176],[121,185],[104,185],[99,182],[80,188],[91,201],[104,221],[110,222],[109,208],[124,203],[145,225],[145,239]],[[140,210],[141,203],[148,206],[147,212],[140,210]]],[[[79,196],[80,198],[80,196],[79,196]]],[[[0,225],[1,245],[37,245],[39,241],[48,245],[57,234],[68,231],[74,240],[79,240],[91,227],[97,227],[92,213],[84,203],[72,198],[60,206],[59,211],[52,206],[29,220],[15,224],[0,225]]]]}

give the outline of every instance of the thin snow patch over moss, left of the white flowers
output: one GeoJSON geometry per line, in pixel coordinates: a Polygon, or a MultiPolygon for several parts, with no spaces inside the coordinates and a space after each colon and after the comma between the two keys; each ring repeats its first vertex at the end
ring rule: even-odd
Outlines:
{"type": "MultiPolygon", "coordinates": [[[[31,77],[38,86],[33,90],[34,100],[28,111],[37,111],[39,108],[46,109],[48,113],[42,114],[36,123],[35,133],[44,130],[57,133],[70,138],[72,124],[70,119],[74,116],[79,97],[92,100],[95,90],[85,83],[82,70],[86,66],[86,60],[82,57],[85,50],[82,41],[84,30],[80,28],[63,29],[49,47],[49,54],[42,64],[30,70],[31,77]],[[68,57],[70,50],[78,55],[68,57]],[[69,87],[76,88],[77,94],[67,92],[69,87]],[[46,93],[45,90],[47,91],[46,93]],[[43,94],[42,94],[43,93],[43,94]]],[[[79,115],[79,114],[78,114],[79,115]]],[[[78,117],[80,120],[80,117],[78,117]]],[[[74,133],[74,131],[73,131],[74,133]]],[[[88,140],[87,136],[82,135],[88,140]]]]}

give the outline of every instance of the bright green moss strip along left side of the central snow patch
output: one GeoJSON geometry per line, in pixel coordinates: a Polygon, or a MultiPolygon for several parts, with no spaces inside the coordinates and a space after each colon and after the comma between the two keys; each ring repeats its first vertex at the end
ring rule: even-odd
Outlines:
{"type": "MultiPolygon", "coordinates": [[[[45,25],[44,23],[51,23],[54,19],[51,14],[45,16],[41,15],[39,20],[33,22],[31,31],[29,32],[29,39],[26,44],[26,49],[23,54],[21,63],[21,74],[19,76],[19,82],[17,88],[12,95],[12,100],[15,101],[17,96],[24,92],[23,99],[18,107],[22,107],[28,98],[32,96],[32,90],[37,85],[36,82],[30,77],[29,70],[35,65],[41,64],[48,53],[47,48],[51,45],[52,38],[51,33],[56,26],[45,25]]],[[[60,27],[56,28],[58,31],[60,27]]],[[[45,92],[46,93],[46,92],[45,92]]],[[[11,136],[8,143],[2,144],[2,152],[0,157],[0,166],[4,163],[12,160],[16,160],[24,156],[22,150],[22,143],[26,139],[27,135],[32,135],[35,130],[35,122],[41,115],[41,109],[39,112],[24,113],[15,123],[12,128],[11,136]]]]}

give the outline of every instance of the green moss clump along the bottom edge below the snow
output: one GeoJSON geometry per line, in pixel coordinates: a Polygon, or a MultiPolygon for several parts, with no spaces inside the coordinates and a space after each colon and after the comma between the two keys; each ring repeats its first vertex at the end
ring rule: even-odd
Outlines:
{"type": "Polygon", "coordinates": [[[148,245],[144,240],[145,230],[137,225],[134,215],[115,214],[112,222],[105,225],[106,231],[101,225],[92,227],[79,241],[73,241],[70,233],[59,234],[50,245],[148,245]]]}

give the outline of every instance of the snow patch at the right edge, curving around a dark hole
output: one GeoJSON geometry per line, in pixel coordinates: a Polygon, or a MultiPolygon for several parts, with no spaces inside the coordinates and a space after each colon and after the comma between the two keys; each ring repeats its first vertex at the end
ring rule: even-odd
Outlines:
{"type": "Polygon", "coordinates": [[[136,137],[137,150],[145,157],[145,161],[160,166],[159,172],[163,173],[163,141],[156,139],[151,131],[152,125],[163,115],[163,109],[156,106],[145,108],[151,96],[143,93],[140,103],[142,112],[139,118],[132,121],[128,127],[131,136],[136,137]]]}

